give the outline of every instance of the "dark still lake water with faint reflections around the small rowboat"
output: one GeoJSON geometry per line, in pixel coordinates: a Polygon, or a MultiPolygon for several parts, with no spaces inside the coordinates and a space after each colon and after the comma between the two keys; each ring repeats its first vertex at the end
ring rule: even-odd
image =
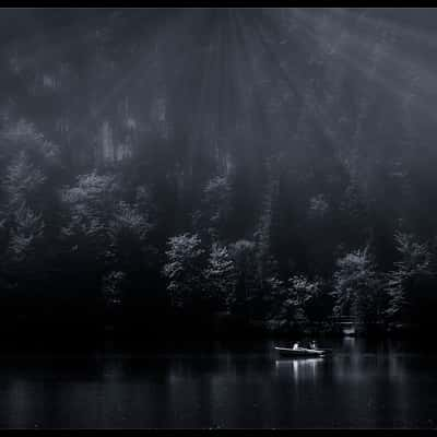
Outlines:
{"type": "Polygon", "coordinates": [[[344,339],[327,358],[280,359],[284,344],[3,354],[0,427],[436,427],[435,352],[344,339]]]}

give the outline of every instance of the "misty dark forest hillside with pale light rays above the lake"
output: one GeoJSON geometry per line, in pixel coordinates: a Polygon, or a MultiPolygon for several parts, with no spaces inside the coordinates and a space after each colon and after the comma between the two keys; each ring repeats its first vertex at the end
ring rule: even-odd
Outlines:
{"type": "Polygon", "coordinates": [[[435,14],[2,10],[3,332],[432,331],[435,14]]]}

